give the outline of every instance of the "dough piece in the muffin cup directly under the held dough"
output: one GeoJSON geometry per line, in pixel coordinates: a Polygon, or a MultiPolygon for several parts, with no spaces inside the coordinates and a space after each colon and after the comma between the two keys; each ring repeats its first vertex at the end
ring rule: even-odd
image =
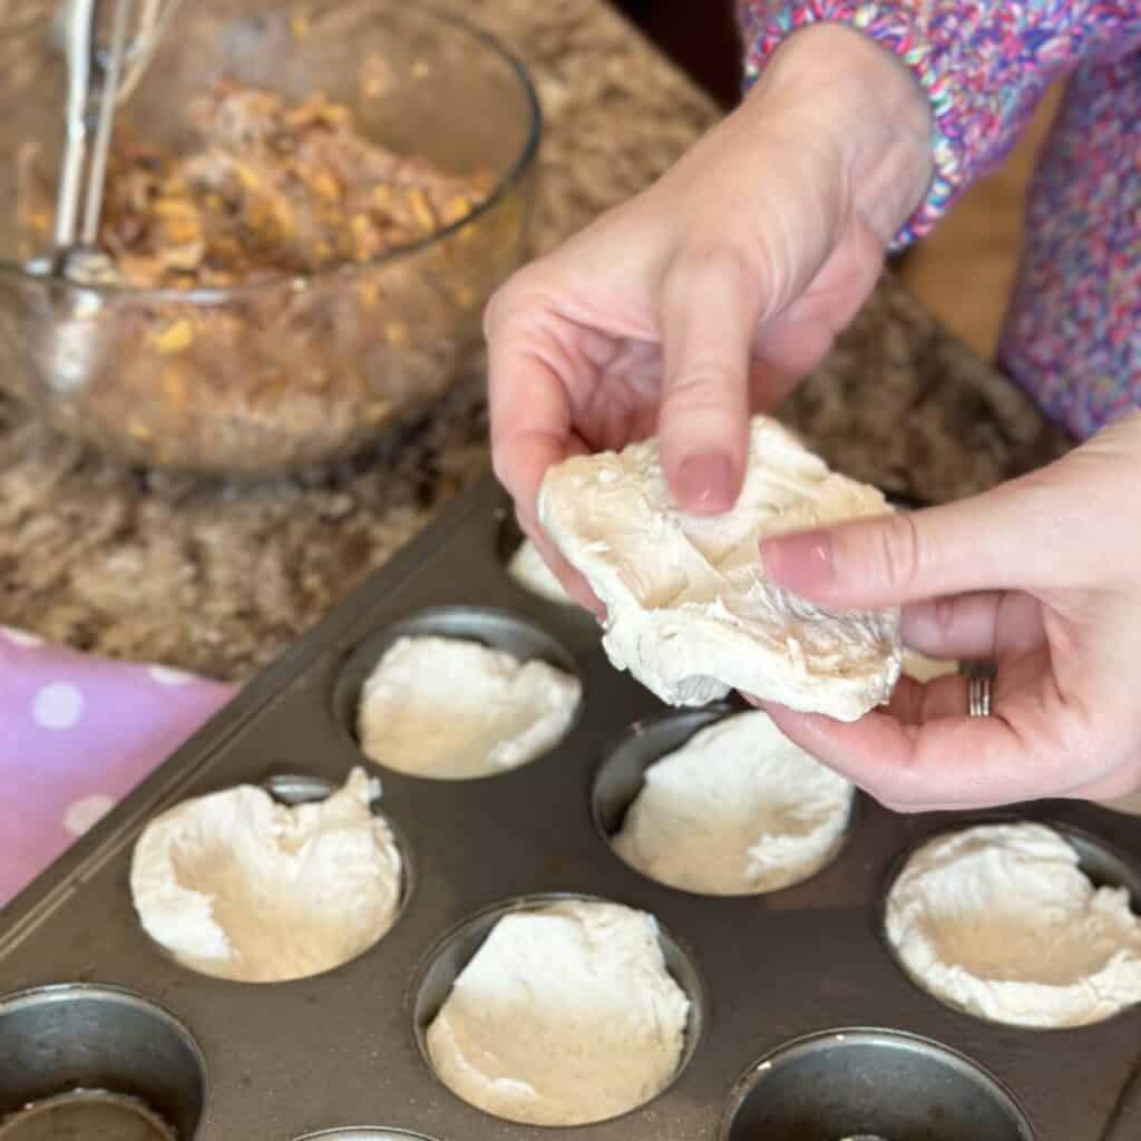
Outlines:
{"type": "Polygon", "coordinates": [[[836,852],[853,790],[755,710],[646,770],[614,850],[659,883],[710,896],[776,891],[836,852]]]}

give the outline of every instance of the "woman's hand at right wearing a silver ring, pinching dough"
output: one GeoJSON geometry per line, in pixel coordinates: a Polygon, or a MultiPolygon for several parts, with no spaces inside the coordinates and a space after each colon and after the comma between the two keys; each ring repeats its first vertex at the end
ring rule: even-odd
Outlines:
{"type": "Polygon", "coordinates": [[[985,495],[768,540],[767,573],[818,602],[905,604],[904,639],[992,658],[993,715],[966,680],[900,681],[851,725],[766,705],[780,729],[909,811],[1141,787],[1141,413],[985,495]]]}

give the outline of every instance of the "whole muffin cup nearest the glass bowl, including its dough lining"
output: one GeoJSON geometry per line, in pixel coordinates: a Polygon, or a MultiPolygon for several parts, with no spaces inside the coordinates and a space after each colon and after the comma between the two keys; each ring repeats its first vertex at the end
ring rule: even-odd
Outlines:
{"type": "Polygon", "coordinates": [[[500,610],[426,610],[366,638],[346,658],[333,713],[383,768],[436,780],[499,776],[537,760],[582,706],[574,658],[500,610]]]}

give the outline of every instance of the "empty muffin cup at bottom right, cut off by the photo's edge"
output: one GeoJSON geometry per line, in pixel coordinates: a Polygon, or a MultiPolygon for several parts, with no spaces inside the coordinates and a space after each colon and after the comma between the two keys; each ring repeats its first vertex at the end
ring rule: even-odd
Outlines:
{"type": "Polygon", "coordinates": [[[737,1082],[719,1141],[1034,1141],[997,1078],[926,1038],[845,1029],[798,1038],[737,1082]]]}

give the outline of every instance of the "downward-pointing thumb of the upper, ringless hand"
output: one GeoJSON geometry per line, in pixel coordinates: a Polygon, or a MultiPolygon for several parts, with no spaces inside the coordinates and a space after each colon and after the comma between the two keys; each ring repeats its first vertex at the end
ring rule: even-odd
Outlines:
{"type": "Polygon", "coordinates": [[[665,477],[685,510],[727,511],[745,477],[760,283],[734,253],[683,254],[666,273],[659,309],[658,442],[665,477]]]}

